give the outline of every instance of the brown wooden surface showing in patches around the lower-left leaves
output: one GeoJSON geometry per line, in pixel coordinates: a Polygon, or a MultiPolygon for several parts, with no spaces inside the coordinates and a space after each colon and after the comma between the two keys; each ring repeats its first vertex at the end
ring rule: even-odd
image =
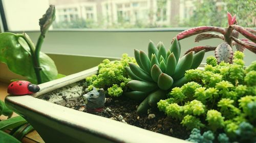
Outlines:
{"type": "MultiPolygon", "coordinates": [[[[2,100],[2,101],[4,101],[6,95],[8,95],[7,87],[8,87],[7,83],[0,82],[0,100],[2,100]]],[[[15,117],[15,116],[18,116],[18,115],[14,112],[12,117],[15,117]]],[[[4,119],[6,119],[6,117],[0,116],[0,119],[4,120],[4,119]]],[[[27,134],[22,139],[22,142],[24,142],[24,143],[40,142],[41,143],[41,142],[44,142],[44,140],[42,140],[40,135],[34,130],[34,131],[30,132],[29,134],[27,134]]]]}

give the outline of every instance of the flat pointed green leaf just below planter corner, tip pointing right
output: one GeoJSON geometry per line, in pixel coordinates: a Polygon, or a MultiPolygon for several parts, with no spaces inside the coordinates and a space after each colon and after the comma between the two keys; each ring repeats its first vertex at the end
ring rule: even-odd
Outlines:
{"type": "Polygon", "coordinates": [[[27,123],[27,121],[20,116],[9,118],[0,122],[0,130],[13,129],[25,123],[27,123]]]}

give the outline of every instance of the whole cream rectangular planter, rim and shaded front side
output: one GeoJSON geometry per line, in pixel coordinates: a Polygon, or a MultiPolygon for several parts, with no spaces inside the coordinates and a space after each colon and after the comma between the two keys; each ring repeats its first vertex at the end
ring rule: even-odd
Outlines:
{"type": "Polygon", "coordinates": [[[58,98],[52,97],[57,96],[54,90],[73,85],[97,72],[98,68],[94,67],[42,83],[38,93],[32,96],[9,95],[5,102],[23,116],[46,142],[188,142],[38,99],[47,95],[52,99],[50,101],[55,102],[58,98]]]}

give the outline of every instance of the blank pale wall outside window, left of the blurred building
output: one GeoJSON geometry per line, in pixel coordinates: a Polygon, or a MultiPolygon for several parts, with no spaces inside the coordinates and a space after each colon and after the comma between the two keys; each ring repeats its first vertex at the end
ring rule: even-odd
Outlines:
{"type": "Polygon", "coordinates": [[[3,0],[9,31],[40,30],[39,18],[49,7],[48,0],[3,0]]]}

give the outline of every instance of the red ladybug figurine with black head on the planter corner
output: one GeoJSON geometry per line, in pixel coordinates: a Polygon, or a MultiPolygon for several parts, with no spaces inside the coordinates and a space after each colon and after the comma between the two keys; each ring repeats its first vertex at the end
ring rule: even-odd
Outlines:
{"type": "Polygon", "coordinates": [[[26,95],[33,94],[40,90],[38,85],[32,84],[29,81],[18,80],[13,81],[9,86],[7,92],[12,95],[26,95]]]}

